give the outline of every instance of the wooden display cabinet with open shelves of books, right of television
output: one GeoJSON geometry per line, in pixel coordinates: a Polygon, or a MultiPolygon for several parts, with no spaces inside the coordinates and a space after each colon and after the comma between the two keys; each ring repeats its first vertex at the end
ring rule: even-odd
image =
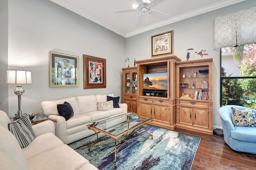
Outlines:
{"type": "Polygon", "coordinates": [[[212,135],[212,74],[212,58],[176,63],[176,126],[178,128],[212,135]],[[203,75],[198,71],[200,69],[208,69],[209,72],[202,77],[203,75]],[[197,73],[196,77],[194,72],[197,73]],[[182,77],[183,75],[186,77],[182,77]],[[204,81],[209,88],[202,88],[205,85],[204,81]],[[180,83],[187,83],[188,86],[181,88],[180,83]],[[195,88],[191,88],[193,83],[195,88]],[[188,95],[191,99],[180,98],[182,95],[188,95]]]}

